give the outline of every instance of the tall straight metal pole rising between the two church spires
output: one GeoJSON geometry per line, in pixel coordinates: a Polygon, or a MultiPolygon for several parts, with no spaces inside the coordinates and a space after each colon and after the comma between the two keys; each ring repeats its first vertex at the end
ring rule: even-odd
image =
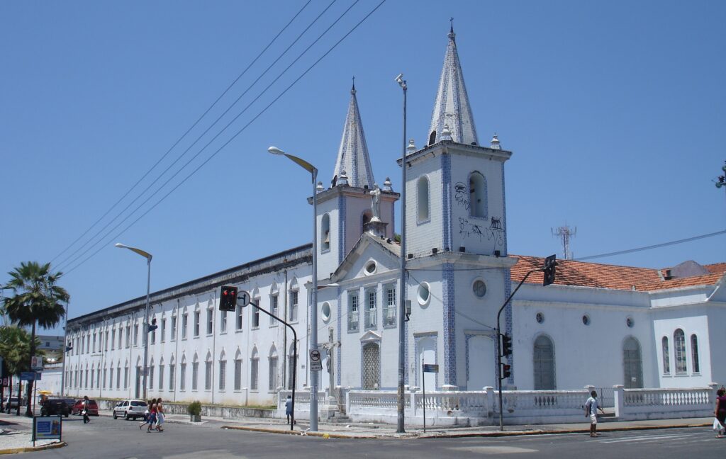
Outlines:
{"type": "Polygon", "coordinates": [[[399,391],[398,400],[398,423],[396,424],[396,433],[403,434],[404,429],[404,376],[406,371],[405,347],[406,328],[404,327],[406,318],[406,80],[403,80],[401,88],[404,90],[404,145],[403,156],[401,157],[401,281],[399,294],[399,391]]]}

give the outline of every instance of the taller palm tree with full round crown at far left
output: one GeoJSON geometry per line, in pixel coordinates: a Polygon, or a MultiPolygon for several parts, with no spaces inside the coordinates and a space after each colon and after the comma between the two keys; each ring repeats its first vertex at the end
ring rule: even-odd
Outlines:
{"type": "MultiPolygon", "coordinates": [[[[70,295],[56,283],[63,274],[51,273],[50,263],[20,263],[20,268],[9,273],[6,289],[12,289],[15,296],[4,299],[5,310],[10,320],[18,326],[30,326],[30,356],[36,352],[36,325],[42,328],[57,326],[65,314],[61,302],[68,302],[70,295]]],[[[33,381],[28,381],[28,405],[25,415],[32,416],[33,381]]]]}

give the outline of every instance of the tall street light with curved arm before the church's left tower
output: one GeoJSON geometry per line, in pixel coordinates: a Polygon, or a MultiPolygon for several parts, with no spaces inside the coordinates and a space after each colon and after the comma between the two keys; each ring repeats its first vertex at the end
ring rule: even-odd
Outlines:
{"type": "MultiPolygon", "coordinates": [[[[313,291],[311,294],[313,307],[310,308],[310,322],[312,323],[310,326],[310,351],[317,351],[317,168],[306,160],[283,152],[277,146],[270,146],[267,151],[287,157],[311,173],[313,178],[313,291]]],[[[314,432],[317,432],[317,379],[317,371],[310,371],[310,430],[314,432]]]]}

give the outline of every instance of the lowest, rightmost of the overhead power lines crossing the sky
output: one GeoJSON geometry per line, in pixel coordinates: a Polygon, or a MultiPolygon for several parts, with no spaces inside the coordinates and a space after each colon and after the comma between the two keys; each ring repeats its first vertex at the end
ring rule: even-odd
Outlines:
{"type": "MultiPolygon", "coordinates": [[[[356,0],[356,3],[357,3],[357,0],[356,0]]],[[[151,207],[150,207],[149,209],[147,209],[147,210],[146,210],[146,212],[144,212],[144,213],[143,213],[142,215],[139,215],[139,217],[138,217],[138,218],[136,218],[136,220],[134,220],[133,222],[129,223],[129,225],[128,225],[128,226],[126,226],[126,228],[123,228],[123,230],[122,230],[121,232],[117,233],[117,234],[116,234],[116,235],[114,236],[114,238],[113,238],[113,239],[115,239],[115,238],[118,238],[118,236],[121,236],[121,234],[123,234],[123,233],[125,233],[126,231],[128,231],[128,230],[129,230],[129,228],[131,228],[131,226],[134,226],[134,225],[135,225],[135,224],[136,224],[136,223],[137,223],[137,222],[138,222],[139,220],[141,220],[142,218],[144,218],[144,216],[146,216],[146,215],[147,215],[147,214],[148,214],[149,212],[151,212],[151,210],[153,210],[153,209],[154,209],[154,208],[155,208],[156,206],[158,206],[158,205],[159,205],[159,204],[160,204],[161,202],[163,202],[163,201],[164,201],[164,200],[165,200],[165,199],[166,199],[166,198],[167,198],[167,197],[168,197],[168,196],[169,196],[169,195],[170,195],[171,193],[173,193],[174,191],[176,191],[176,189],[178,189],[178,188],[179,188],[179,186],[181,186],[181,185],[182,185],[182,184],[183,184],[184,182],[186,182],[186,181],[187,181],[187,180],[188,180],[188,179],[189,179],[190,177],[192,177],[192,175],[194,175],[195,173],[197,173],[197,171],[198,171],[198,170],[200,170],[201,168],[203,168],[203,167],[204,167],[204,166],[205,166],[205,165],[206,165],[206,164],[207,164],[207,163],[208,163],[208,162],[209,162],[210,160],[212,160],[212,158],[213,158],[213,157],[215,157],[215,156],[216,156],[216,154],[218,154],[219,152],[221,152],[221,150],[222,150],[222,149],[224,149],[224,148],[225,148],[225,147],[226,147],[227,145],[229,145],[229,143],[230,143],[230,142],[232,142],[232,141],[233,141],[233,140],[234,140],[235,138],[237,138],[237,136],[239,136],[239,135],[240,135],[240,134],[241,134],[241,133],[242,133],[243,131],[245,131],[245,130],[246,130],[246,129],[247,129],[247,128],[248,128],[248,127],[249,127],[249,126],[250,126],[250,125],[252,124],[252,123],[254,123],[254,122],[255,122],[255,121],[256,121],[256,120],[258,119],[258,117],[261,117],[261,115],[263,115],[263,114],[264,114],[264,112],[266,112],[266,111],[267,111],[267,110],[268,110],[268,109],[269,109],[270,107],[272,107],[272,105],[273,105],[273,104],[274,104],[275,102],[277,102],[277,101],[278,101],[278,100],[279,100],[279,99],[280,99],[280,98],[281,98],[282,96],[284,96],[284,95],[285,95],[285,94],[287,93],[287,91],[290,91],[290,88],[293,88],[293,86],[295,86],[295,84],[297,84],[297,83],[298,83],[298,81],[300,81],[300,80],[301,80],[301,79],[302,79],[302,78],[303,78],[303,77],[304,77],[305,75],[307,75],[307,74],[308,74],[308,73],[310,72],[310,70],[312,70],[312,69],[313,69],[314,67],[316,67],[316,66],[317,66],[317,65],[319,64],[319,62],[320,62],[320,61],[322,61],[322,59],[325,59],[325,57],[327,57],[327,55],[328,55],[328,54],[330,54],[330,53],[331,53],[331,52],[332,52],[332,51],[333,51],[333,50],[334,50],[335,48],[337,48],[337,47],[338,47],[338,45],[339,45],[340,43],[342,43],[342,42],[343,42],[343,40],[345,40],[346,38],[348,38],[348,36],[350,36],[350,34],[351,34],[351,33],[353,33],[353,32],[354,32],[354,31],[355,31],[355,30],[356,30],[357,28],[359,28],[359,26],[360,26],[360,25],[361,25],[361,24],[362,24],[363,22],[365,22],[365,21],[366,21],[366,20],[368,19],[368,17],[370,17],[370,16],[371,16],[371,15],[372,15],[372,14],[373,14],[374,12],[376,12],[376,11],[378,10],[378,8],[380,8],[380,7],[381,7],[381,6],[382,6],[382,5],[384,4],[384,3],[386,3],[386,0],[381,0],[381,1],[380,1],[380,3],[379,3],[378,5],[376,5],[376,6],[375,6],[375,7],[373,8],[373,9],[371,9],[371,11],[370,11],[370,12],[369,12],[369,13],[368,13],[367,15],[365,15],[365,16],[363,17],[363,19],[362,19],[362,20],[360,20],[359,22],[357,22],[357,23],[356,23],[356,25],[354,25],[354,27],[353,27],[353,28],[351,28],[351,30],[348,30],[348,33],[346,33],[346,34],[345,34],[345,35],[344,35],[343,37],[341,37],[341,38],[340,38],[340,39],[339,39],[339,40],[338,40],[337,42],[335,42],[335,44],[334,44],[333,46],[331,46],[331,47],[330,47],[330,49],[328,49],[327,51],[325,51],[325,53],[324,53],[324,54],[322,54],[322,56],[321,56],[321,57],[319,57],[319,58],[318,58],[318,59],[317,59],[317,60],[316,60],[315,62],[313,62],[313,64],[312,64],[312,65],[310,65],[310,67],[308,67],[308,68],[307,68],[307,69],[306,69],[306,70],[305,70],[305,71],[304,71],[303,73],[301,73],[301,75],[300,75],[300,76],[298,76],[298,78],[296,78],[295,80],[293,80],[293,82],[292,82],[292,83],[290,83],[290,85],[288,85],[288,86],[287,86],[287,88],[285,88],[285,89],[284,89],[284,90],[283,90],[282,92],[280,92],[280,94],[278,94],[278,95],[277,95],[277,97],[275,97],[274,99],[272,99],[272,102],[269,102],[269,104],[267,104],[267,105],[266,105],[266,106],[265,106],[265,107],[264,107],[263,109],[261,109],[261,111],[260,111],[260,112],[258,112],[258,114],[257,114],[257,115],[255,115],[255,116],[254,116],[254,117],[253,117],[253,118],[252,118],[252,119],[251,119],[251,120],[250,120],[250,121],[249,121],[249,122],[248,122],[247,124],[245,124],[244,126],[242,126],[242,128],[240,128],[240,130],[239,130],[239,131],[237,131],[236,133],[234,133],[234,135],[233,135],[232,137],[230,137],[230,138],[229,138],[229,139],[228,139],[227,141],[225,141],[225,142],[224,142],[224,144],[222,144],[222,145],[221,145],[221,146],[220,146],[220,147],[219,147],[218,149],[216,149],[216,151],[215,151],[215,152],[213,152],[213,153],[211,154],[211,156],[210,156],[210,157],[208,157],[208,158],[207,158],[206,160],[204,160],[204,161],[203,161],[203,162],[202,162],[202,163],[201,163],[200,165],[198,165],[198,166],[197,166],[197,168],[195,168],[194,170],[192,170],[192,172],[191,172],[191,173],[189,173],[189,174],[188,174],[188,175],[187,175],[187,176],[186,176],[186,177],[185,177],[185,178],[184,178],[184,179],[183,179],[183,180],[182,180],[181,182],[177,183],[177,184],[176,184],[176,186],[174,186],[174,188],[172,188],[171,190],[169,190],[169,191],[168,191],[168,192],[167,192],[167,193],[166,193],[166,194],[165,194],[165,195],[164,195],[163,197],[161,197],[161,199],[159,199],[159,200],[158,200],[157,202],[155,202],[155,204],[153,204],[153,205],[152,205],[152,206],[151,206],[151,207]]],[[[350,9],[350,8],[348,8],[348,9],[350,9]]],[[[348,11],[348,10],[346,10],[346,12],[347,12],[347,11],[348,11]]],[[[344,15],[344,14],[345,14],[345,13],[343,13],[343,15],[344,15]]],[[[340,18],[338,18],[338,20],[339,20],[339,19],[340,19],[340,18]]],[[[338,20],[336,20],[335,22],[338,22],[338,20]]],[[[335,22],[333,23],[333,25],[335,25],[335,22]]],[[[331,25],[330,27],[333,27],[333,25],[331,25]]],[[[330,29],[330,28],[329,28],[329,29],[330,29]]],[[[328,29],[328,30],[329,30],[329,29],[328,29]]],[[[326,30],[326,32],[327,32],[327,30],[326,30]]],[[[325,34],[325,33],[324,33],[324,34],[325,34]]],[[[316,41],[317,41],[317,40],[316,40],[316,41]]],[[[312,46],[312,45],[311,45],[311,46],[312,46]]],[[[308,48],[308,49],[309,49],[309,48],[308,48]]],[[[306,49],[305,51],[303,51],[303,54],[304,54],[304,52],[306,52],[306,51],[307,51],[307,49],[306,49]]],[[[293,62],[293,63],[294,63],[294,62],[293,62]]],[[[289,67],[288,67],[288,68],[289,68],[289,67]]],[[[287,69],[286,69],[285,71],[287,71],[287,69]]],[[[282,75],[280,75],[280,76],[282,76],[282,75]]],[[[278,77],[278,78],[279,78],[279,77],[278,77]]],[[[277,81],[277,79],[276,79],[275,81],[277,81]]],[[[274,83],[274,82],[273,82],[273,83],[274,83]]],[[[272,86],[272,83],[270,84],[270,86],[272,86]]],[[[269,88],[269,86],[268,86],[267,88],[269,88]]],[[[267,88],[265,88],[265,91],[267,90],[267,88]]],[[[264,94],[264,93],[263,93],[263,94],[264,94]]],[[[258,98],[259,98],[259,96],[258,96],[258,98]]],[[[258,98],[257,98],[257,99],[258,99],[258,98]]],[[[255,100],[257,100],[257,99],[255,99],[255,100]]],[[[255,101],[253,101],[253,102],[255,102],[255,101]]],[[[253,102],[250,102],[250,104],[252,104],[253,102]]],[[[235,119],[236,119],[236,118],[235,118],[235,119]]],[[[234,121],[234,120],[233,120],[233,121],[234,121]]],[[[198,155],[198,153],[197,153],[197,155],[198,155]]],[[[192,160],[193,160],[193,159],[194,159],[194,158],[192,158],[192,160]]],[[[190,161],[191,161],[191,160],[190,160],[190,161]]],[[[187,164],[189,164],[189,162],[187,162],[187,164]]],[[[185,165],[184,167],[186,167],[186,165],[185,165]]],[[[182,168],[182,169],[183,169],[183,168],[182,168]]],[[[177,173],[179,173],[179,171],[177,171],[177,173]]],[[[175,174],[175,175],[176,175],[176,174],[175,174]]],[[[170,179],[170,180],[171,180],[171,179],[170,179]]],[[[168,181],[167,181],[166,183],[168,183],[168,181]]],[[[164,185],[166,185],[166,183],[164,183],[164,185]]],[[[163,185],[163,186],[164,186],[164,185],[163,185]]],[[[163,188],[163,186],[161,186],[161,187],[160,187],[160,189],[161,189],[161,188],[163,188]]],[[[159,190],[160,190],[160,189],[159,189],[159,190]]],[[[151,197],[150,197],[150,198],[151,198],[151,197]]],[[[150,199],[150,198],[149,198],[149,199],[150,199]]],[[[141,205],[143,205],[143,204],[145,204],[146,202],[148,202],[148,201],[149,201],[149,199],[147,199],[146,201],[144,201],[144,203],[142,203],[141,205]]],[[[141,205],[139,205],[139,207],[137,207],[137,208],[136,208],[136,210],[139,210],[139,208],[141,207],[141,205]]],[[[134,212],[136,212],[136,210],[134,210],[134,212]]],[[[128,219],[128,217],[127,217],[126,219],[128,219]]],[[[126,220],[126,219],[125,219],[125,220],[126,220]]],[[[125,220],[124,220],[124,221],[125,221],[125,220]]],[[[121,222],[121,223],[123,223],[123,222],[121,222]]],[[[117,226],[115,226],[115,227],[114,227],[113,229],[115,229],[115,228],[118,228],[118,226],[119,226],[119,225],[121,225],[121,223],[119,223],[119,224],[118,224],[117,226]]],[[[112,231],[113,231],[113,229],[112,229],[112,231]]],[[[82,260],[81,262],[79,262],[79,263],[78,263],[77,265],[73,266],[73,268],[70,268],[70,270],[67,270],[67,271],[66,271],[66,273],[70,273],[70,272],[72,272],[73,270],[76,270],[76,268],[78,268],[79,266],[83,265],[83,263],[85,263],[85,262],[86,262],[86,261],[88,261],[88,260],[89,260],[89,259],[90,259],[91,257],[93,257],[93,256],[94,256],[94,255],[96,255],[96,254],[97,254],[98,252],[100,252],[100,251],[101,251],[101,249],[103,249],[103,246],[102,246],[102,247],[100,247],[99,249],[97,249],[97,250],[96,250],[95,252],[93,252],[93,253],[92,253],[91,255],[89,255],[89,256],[88,256],[88,257],[86,257],[85,259],[83,259],[83,260],[82,260]]]]}

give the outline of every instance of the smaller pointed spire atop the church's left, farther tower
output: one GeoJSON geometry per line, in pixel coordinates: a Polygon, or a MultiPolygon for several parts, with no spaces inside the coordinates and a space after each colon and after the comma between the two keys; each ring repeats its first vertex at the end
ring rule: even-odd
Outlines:
{"type": "Polygon", "coordinates": [[[346,123],[343,126],[343,138],[340,140],[340,149],[338,149],[338,160],[335,161],[333,181],[336,178],[339,179],[345,172],[348,173],[350,186],[358,188],[368,186],[370,188],[373,185],[373,168],[370,165],[363,123],[358,111],[355,77],[351,87],[348,115],[346,115],[346,123]]]}

